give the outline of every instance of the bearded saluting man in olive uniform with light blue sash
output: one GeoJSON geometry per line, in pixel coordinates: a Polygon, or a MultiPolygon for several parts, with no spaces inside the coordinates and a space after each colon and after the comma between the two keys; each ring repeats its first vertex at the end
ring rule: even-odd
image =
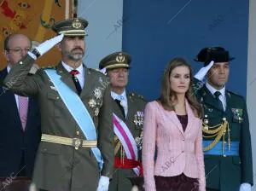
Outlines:
{"type": "Polygon", "coordinates": [[[112,103],[106,77],[82,63],[87,25],[82,18],[56,22],[53,30],[59,35],[28,52],[5,78],[15,94],[38,97],[42,138],[32,182],[40,190],[108,190],[112,103]],[[38,56],[57,43],[60,63],[28,76],[38,56]]]}

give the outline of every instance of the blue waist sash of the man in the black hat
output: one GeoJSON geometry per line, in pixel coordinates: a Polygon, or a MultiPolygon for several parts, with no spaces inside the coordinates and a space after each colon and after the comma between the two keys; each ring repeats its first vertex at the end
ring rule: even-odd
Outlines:
{"type": "MultiPolygon", "coordinates": [[[[206,148],[212,141],[203,141],[203,147],[206,148]]],[[[212,149],[205,151],[207,155],[227,155],[227,156],[239,156],[239,142],[230,142],[230,151],[228,143],[224,146],[224,153],[222,150],[222,142],[218,142],[212,149]]]]}

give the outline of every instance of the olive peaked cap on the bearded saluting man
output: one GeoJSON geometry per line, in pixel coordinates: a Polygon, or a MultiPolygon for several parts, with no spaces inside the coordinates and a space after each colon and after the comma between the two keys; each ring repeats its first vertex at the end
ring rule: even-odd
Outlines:
{"type": "Polygon", "coordinates": [[[83,18],[72,18],[55,22],[52,30],[64,36],[85,36],[84,29],[88,26],[88,21],[83,18]]]}

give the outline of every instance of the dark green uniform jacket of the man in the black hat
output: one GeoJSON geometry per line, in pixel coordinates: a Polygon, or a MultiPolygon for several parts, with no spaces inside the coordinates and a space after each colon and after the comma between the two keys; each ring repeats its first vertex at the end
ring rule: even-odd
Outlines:
{"type": "MultiPolygon", "coordinates": [[[[226,118],[230,125],[230,141],[240,142],[239,156],[206,155],[205,169],[207,178],[207,188],[214,188],[221,191],[238,190],[240,184],[247,182],[253,185],[253,160],[251,135],[247,116],[246,101],[242,96],[238,96],[230,91],[225,92],[227,107],[225,112],[218,108],[218,101],[212,93],[203,85],[200,90],[200,83],[195,84],[195,94],[201,102],[204,114],[203,122],[211,127],[223,123],[226,118]]],[[[203,134],[203,136],[206,136],[203,134]]],[[[213,138],[203,137],[204,141],[213,138]]],[[[220,139],[220,142],[223,139],[220,139]]],[[[228,142],[228,134],[225,134],[225,141],[228,142]]],[[[231,143],[232,148],[232,143],[231,143]]]]}

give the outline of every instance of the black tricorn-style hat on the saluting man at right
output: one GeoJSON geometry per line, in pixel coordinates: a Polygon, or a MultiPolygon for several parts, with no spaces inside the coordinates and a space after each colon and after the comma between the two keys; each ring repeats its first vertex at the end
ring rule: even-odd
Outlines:
{"type": "Polygon", "coordinates": [[[207,66],[211,61],[214,62],[228,62],[235,58],[230,57],[229,51],[222,47],[209,47],[201,49],[194,61],[204,62],[207,66]]]}

